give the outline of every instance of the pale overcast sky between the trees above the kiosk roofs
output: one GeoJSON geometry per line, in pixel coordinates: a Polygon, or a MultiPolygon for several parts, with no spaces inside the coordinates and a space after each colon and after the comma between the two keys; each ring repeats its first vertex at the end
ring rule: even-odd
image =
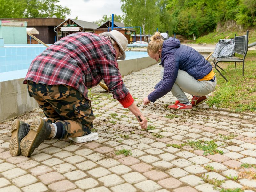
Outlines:
{"type": "Polygon", "coordinates": [[[71,9],[71,14],[66,18],[93,22],[103,15],[123,15],[120,0],[59,0],[59,5],[71,9]]]}

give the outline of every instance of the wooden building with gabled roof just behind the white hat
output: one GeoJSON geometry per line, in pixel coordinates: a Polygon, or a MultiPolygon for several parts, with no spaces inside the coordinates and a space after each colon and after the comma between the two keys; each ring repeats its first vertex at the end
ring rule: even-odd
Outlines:
{"type": "MultiPolygon", "coordinates": [[[[112,26],[112,21],[108,20],[105,23],[103,23],[101,26],[96,28],[94,30],[94,33],[100,34],[105,31],[111,31],[111,28],[108,28],[111,26],[112,26]]],[[[130,43],[130,34],[131,33],[136,34],[136,31],[133,28],[124,28],[125,27],[124,23],[114,21],[114,27],[119,27],[119,28],[114,28],[114,30],[121,32],[127,38],[128,43],[130,43]]]]}

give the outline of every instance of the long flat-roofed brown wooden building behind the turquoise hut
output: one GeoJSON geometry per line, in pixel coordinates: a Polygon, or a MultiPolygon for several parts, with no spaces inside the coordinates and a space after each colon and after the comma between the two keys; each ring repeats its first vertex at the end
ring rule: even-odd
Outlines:
{"type": "MultiPolygon", "coordinates": [[[[54,28],[65,21],[60,18],[4,18],[0,20],[27,21],[27,27],[34,27],[39,31],[39,35],[35,35],[38,39],[46,44],[53,44],[56,40],[54,28]]],[[[27,35],[28,43],[30,37],[27,35]]]]}

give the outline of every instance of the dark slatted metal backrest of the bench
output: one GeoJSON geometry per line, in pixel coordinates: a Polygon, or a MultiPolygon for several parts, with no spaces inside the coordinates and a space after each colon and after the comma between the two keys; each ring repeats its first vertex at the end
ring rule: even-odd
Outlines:
{"type": "Polygon", "coordinates": [[[244,55],[244,58],[248,51],[248,34],[249,34],[249,31],[247,31],[246,35],[242,35],[242,36],[236,36],[235,34],[235,38],[234,38],[235,53],[244,55]]]}

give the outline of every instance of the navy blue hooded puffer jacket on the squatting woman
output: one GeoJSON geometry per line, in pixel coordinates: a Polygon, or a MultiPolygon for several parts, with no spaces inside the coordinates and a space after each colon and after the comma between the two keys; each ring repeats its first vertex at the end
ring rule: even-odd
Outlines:
{"type": "Polygon", "coordinates": [[[195,79],[202,79],[212,70],[212,65],[199,52],[180,45],[180,41],[172,37],[163,43],[161,65],[164,67],[164,76],[156,85],[155,91],[148,95],[151,102],[171,91],[179,69],[186,71],[195,79]]]}

